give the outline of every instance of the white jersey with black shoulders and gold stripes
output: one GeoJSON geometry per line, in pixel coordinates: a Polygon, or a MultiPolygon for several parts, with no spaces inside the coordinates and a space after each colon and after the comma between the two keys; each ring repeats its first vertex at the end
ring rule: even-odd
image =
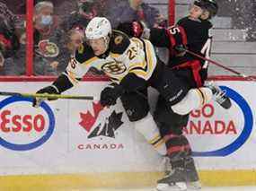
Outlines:
{"type": "Polygon", "coordinates": [[[133,73],[146,81],[151,77],[156,65],[154,47],[146,39],[129,39],[118,30],[113,30],[110,47],[102,56],[95,56],[86,43],[75,51],[66,67],[70,82],[77,83],[84,74],[95,67],[108,75],[114,82],[120,82],[127,74],[133,73]]]}

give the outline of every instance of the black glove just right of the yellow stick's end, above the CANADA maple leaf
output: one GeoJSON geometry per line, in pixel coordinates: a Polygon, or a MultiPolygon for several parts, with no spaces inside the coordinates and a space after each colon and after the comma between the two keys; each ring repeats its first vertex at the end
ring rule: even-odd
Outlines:
{"type": "Polygon", "coordinates": [[[108,86],[104,88],[101,92],[101,104],[102,107],[105,106],[112,106],[117,103],[118,98],[123,94],[124,89],[119,84],[111,84],[111,86],[108,86]]]}

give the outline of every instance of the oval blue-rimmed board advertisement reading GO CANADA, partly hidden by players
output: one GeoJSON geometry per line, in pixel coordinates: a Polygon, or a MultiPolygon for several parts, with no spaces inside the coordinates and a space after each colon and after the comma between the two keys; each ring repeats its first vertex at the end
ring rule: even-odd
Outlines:
{"type": "Polygon", "coordinates": [[[243,146],[252,133],[252,109],[238,92],[222,86],[232,100],[231,109],[210,102],[190,113],[184,134],[194,156],[227,156],[243,146]]]}

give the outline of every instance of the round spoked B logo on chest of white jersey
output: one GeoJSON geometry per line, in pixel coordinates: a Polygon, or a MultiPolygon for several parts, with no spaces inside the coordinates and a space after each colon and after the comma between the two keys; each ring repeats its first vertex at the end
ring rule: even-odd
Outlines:
{"type": "Polygon", "coordinates": [[[108,74],[122,74],[127,70],[127,67],[121,62],[109,62],[102,65],[102,70],[108,74]]]}

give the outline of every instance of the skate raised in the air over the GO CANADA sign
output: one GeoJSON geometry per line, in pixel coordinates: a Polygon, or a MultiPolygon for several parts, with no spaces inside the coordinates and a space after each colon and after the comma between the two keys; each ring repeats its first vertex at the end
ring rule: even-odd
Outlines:
{"type": "Polygon", "coordinates": [[[209,82],[207,86],[213,92],[213,99],[224,109],[231,108],[231,100],[225,95],[225,91],[222,91],[220,87],[214,85],[213,82],[209,82]]]}

